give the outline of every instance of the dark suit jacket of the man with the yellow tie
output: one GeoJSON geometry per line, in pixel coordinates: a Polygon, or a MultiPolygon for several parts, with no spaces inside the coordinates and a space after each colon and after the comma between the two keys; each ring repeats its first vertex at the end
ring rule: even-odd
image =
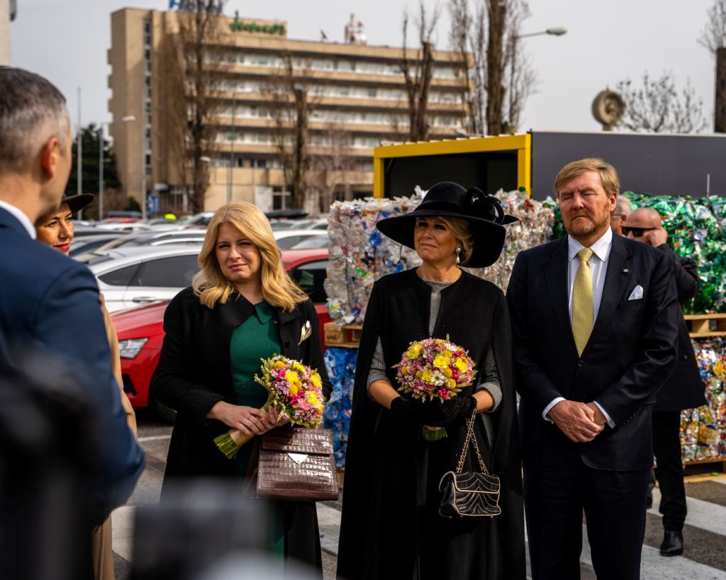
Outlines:
{"type": "Polygon", "coordinates": [[[600,310],[577,355],[568,310],[568,239],[518,254],[507,290],[523,460],[557,465],[576,451],[590,467],[634,470],[653,464],[650,407],[672,373],[680,310],[671,257],[613,236],[600,310]],[[629,300],[637,285],[643,297],[629,300]],[[615,428],[574,443],[542,418],[564,397],[597,399],[615,428]]]}

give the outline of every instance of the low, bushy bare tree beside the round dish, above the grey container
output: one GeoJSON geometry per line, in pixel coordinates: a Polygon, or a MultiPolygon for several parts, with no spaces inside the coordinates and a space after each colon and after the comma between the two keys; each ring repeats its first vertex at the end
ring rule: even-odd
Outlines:
{"type": "Polygon", "coordinates": [[[625,112],[618,128],[651,133],[698,133],[706,127],[703,100],[686,81],[678,91],[672,73],[664,72],[651,79],[646,72],[643,86],[636,87],[632,80],[621,80],[616,85],[625,103],[625,112]]]}

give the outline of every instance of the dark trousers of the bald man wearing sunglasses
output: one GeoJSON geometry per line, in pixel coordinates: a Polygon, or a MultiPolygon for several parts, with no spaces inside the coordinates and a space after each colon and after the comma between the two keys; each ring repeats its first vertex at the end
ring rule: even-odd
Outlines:
{"type": "Polygon", "coordinates": [[[656,478],[661,489],[663,528],[681,531],[685,522],[685,486],[680,449],[680,411],[653,413],[653,452],[656,478]]]}

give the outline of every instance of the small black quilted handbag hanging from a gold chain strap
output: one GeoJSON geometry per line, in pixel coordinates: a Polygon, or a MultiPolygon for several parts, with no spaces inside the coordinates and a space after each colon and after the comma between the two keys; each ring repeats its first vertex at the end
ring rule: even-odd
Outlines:
{"type": "Polygon", "coordinates": [[[447,471],[439,481],[439,492],[441,492],[439,515],[444,518],[490,518],[502,513],[502,509],[499,508],[499,477],[486,471],[474,436],[474,421],[476,421],[476,409],[466,422],[466,439],[456,471],[447,471]],[[474,447],[481,473],[479,471],[462,473],[469,444],[474,447]]]}

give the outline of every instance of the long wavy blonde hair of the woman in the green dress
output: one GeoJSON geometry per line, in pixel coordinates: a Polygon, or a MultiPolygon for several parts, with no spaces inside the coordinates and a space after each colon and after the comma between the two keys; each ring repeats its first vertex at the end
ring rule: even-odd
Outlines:
{"type": "Polygon", "coordinates": [[[262,258],[262,297],[265,302],[291,312],[295,305],[308,299],[307,294],[287,276],[282,266],[280,249],[264,213],[256,205],[234,202],[214,212],[197,258],[201,270],[192,278],[192,288],[203,305],[213,308],[217,302],[226,304],[234,292],[234,285],[219,268],[215,251],[219,228],[223,224],[231,225],[259,250],[262,258]]]}

